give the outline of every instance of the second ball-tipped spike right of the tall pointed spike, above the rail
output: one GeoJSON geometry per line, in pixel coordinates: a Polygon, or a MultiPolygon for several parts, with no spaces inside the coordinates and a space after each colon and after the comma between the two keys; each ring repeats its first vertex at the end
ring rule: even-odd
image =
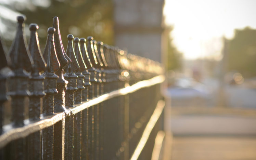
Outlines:
{"type": "Polygon", "coordinates": [[[78,76],[78,79],[77,79],[77,83],[76,83],[77,91],[75,92],[74,103],[79,104],[79,103],[81,103],[81,100],[82,100],[82,97],[81,97],[82,90],[85,89],[85,87],[84,87],[85,76],[82,75],[81,72],[86,70],[86,66],[85,66],[85,62],[81,55],[79,38],[74,38],[74,42],[75,42],[75,45],[74,45],[75,54],[76,54],[77,62],[79,64],[79,70],[77,72],[75,72],[75,74],[78,76]]]}

